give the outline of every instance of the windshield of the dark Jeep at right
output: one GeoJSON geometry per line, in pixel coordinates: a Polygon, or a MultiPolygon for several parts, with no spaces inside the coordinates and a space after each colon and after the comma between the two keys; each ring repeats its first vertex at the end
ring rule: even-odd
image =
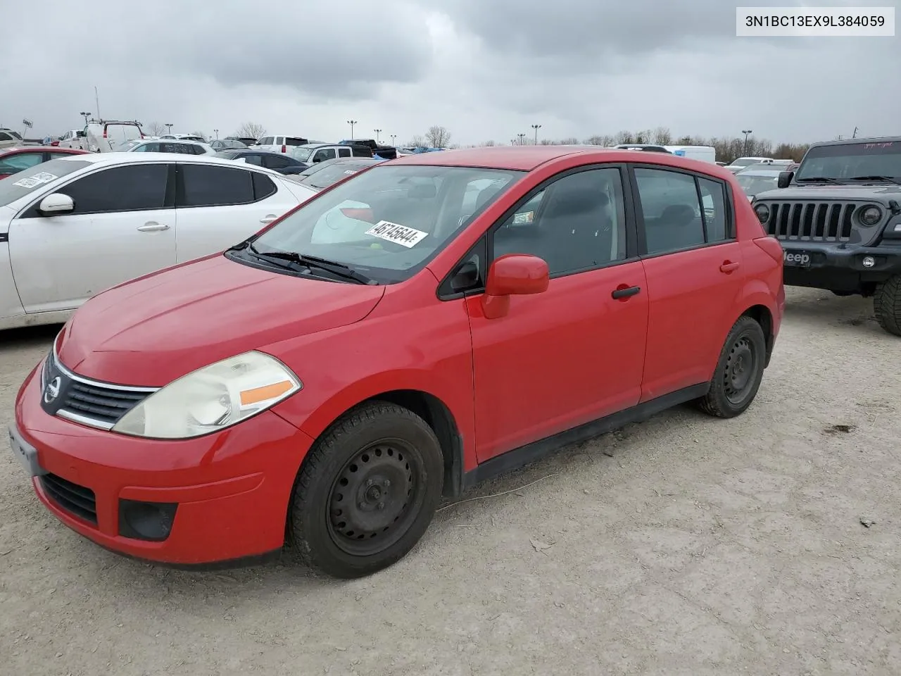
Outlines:
{"type": "Polygon", "coordinates": [[[807,151],[796,180],[864,176],[901,178],[901,142],[837,143],[807,151]]]}

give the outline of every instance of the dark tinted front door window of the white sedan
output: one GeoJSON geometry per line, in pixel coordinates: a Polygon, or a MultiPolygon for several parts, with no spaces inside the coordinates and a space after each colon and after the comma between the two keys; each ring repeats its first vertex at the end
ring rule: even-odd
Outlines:
{"type": "Polygon", "coordinates": [[[72,198],[76,215],[161,209],[167,178],[166,164],[129,164],[78,178],[57,192],[72,198]]]}

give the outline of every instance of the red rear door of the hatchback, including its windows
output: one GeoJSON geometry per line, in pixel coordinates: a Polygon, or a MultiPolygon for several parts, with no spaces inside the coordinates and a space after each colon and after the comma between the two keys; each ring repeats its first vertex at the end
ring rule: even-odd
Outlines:
{"type": "Polygon", "coordinates": [[[651,301],[642,401],[709,381],[743,279],[723,181],[636,165],[633,194],[651,301]]]}

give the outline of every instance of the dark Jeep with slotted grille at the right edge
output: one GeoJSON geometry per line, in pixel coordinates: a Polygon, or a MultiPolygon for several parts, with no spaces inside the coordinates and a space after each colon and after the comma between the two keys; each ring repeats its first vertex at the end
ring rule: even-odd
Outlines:
{"type": "Polygon", "coordinates": [[[788,286],[873,297],[901,335],[901,137],[814,143],[751,206],[782,244],[788,286]]]}

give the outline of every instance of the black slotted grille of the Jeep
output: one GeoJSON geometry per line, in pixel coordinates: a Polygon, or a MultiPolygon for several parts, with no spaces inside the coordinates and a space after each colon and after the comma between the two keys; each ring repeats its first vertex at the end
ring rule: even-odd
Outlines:
{"type": "Polygon", "coordinates": [[[766,202],[767,234],[778,240],[848,242],[852,216],[858,205],[851,202],[766,202]]]}

